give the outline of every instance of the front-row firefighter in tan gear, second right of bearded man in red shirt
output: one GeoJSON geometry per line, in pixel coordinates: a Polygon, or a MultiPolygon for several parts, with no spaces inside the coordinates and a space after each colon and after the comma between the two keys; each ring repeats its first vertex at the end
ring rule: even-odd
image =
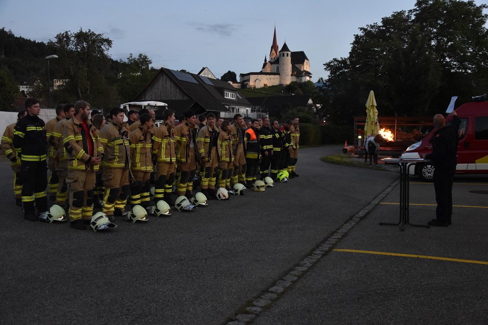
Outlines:
{"type": "Polygon", "coordinates": [[[142,114],[138,122],[140,122],[139,127],[129,134],[130,168],[134,178],[130,186],[129,202],[132,206],[139,204],[147,208],[151,205],[149,192],[153,171],[151,142],[153,121],[151,115],[147,113],[142,114]]]}

